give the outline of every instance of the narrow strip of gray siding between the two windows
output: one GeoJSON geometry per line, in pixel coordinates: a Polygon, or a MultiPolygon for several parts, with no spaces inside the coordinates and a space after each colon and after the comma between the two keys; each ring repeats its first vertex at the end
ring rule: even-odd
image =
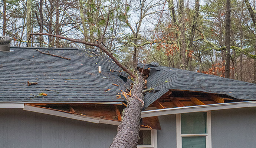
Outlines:
{"type": "Polygon", "coordinates": [[[176,148],[176,115],[158,117],[161,131],[157,131],[158,148],[176,148]]]}

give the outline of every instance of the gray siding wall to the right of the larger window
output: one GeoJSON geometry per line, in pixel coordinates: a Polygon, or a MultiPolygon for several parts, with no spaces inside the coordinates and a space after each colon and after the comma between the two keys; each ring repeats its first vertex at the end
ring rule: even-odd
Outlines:
{"type": "Polygon", "coordinates": [[[211,111],[212,148],[255,148],[256,108],[211,111]]]}

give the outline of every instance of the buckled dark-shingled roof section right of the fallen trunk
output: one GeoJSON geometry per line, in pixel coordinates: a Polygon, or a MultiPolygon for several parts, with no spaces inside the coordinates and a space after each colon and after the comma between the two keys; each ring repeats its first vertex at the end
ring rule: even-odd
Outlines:
{"type": "MultiPolygon", "coordinates": [[[[143,64],[138,64],[138,67],[142,68],[143,64]]],[[[150,75],[147,78],[147,87],[154,88],[154,91],[145,94],[144,108],[169,90],[207,92],[224,94],[242,100],[256,100],[256,84],[159,66],[157,63],[146,64],[144,69],[148,68],[150,75]]]]}

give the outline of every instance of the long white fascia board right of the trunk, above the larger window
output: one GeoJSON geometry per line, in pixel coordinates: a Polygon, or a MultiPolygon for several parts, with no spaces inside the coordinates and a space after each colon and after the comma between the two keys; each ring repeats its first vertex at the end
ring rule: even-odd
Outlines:
{"type": "Polygon", "coordinates": [[[244,108],[244,107],[256,107],[256,101],[219,103],[219,104],[175,107],[175,108],[165,108],[165,109],[159,109],[159,110],[142,111],[141,118],[161,116],[161,115],[182,114],[182,113],[188,113],[188,112],[244,108]]]}

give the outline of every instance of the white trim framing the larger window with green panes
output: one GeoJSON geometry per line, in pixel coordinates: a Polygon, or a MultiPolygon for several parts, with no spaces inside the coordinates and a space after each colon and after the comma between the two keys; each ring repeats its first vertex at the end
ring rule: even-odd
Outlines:
{"type": "Polygon", "coordinates": [[[207,111],[207,134],[181,134],[181,117],[176,114],[177,148],[182,148],[181,137],[206,136],[206,148],[211,148],[211,111],[207,111]]]}

